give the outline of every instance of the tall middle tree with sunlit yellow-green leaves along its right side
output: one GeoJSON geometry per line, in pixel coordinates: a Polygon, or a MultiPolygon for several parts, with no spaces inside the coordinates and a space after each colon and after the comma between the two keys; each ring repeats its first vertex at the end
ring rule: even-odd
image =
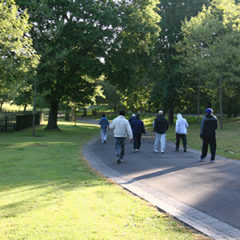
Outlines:
{"type": "Polygon", "coordinates": [[[106,79],[117,87],[123,104],[136,109],[149,97],[145,93],[151,82],[161,18],[156,0],[122,2],[121,26],[105,58],[106,79]]]}

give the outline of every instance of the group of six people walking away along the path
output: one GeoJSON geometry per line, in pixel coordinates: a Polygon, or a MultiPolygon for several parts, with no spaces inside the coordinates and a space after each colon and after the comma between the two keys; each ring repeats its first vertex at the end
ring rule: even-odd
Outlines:
{"type": "MultiPolygon", "coordinates": [[[[127,120],[125,118],[125,111],[121,110],[119,116],[113,119],[109,124],[108,119],[103,114],[99,121],[101,126],[101,141],[102,143],[107,142],[107,129],[113,129],[115,138],[114,152],[117,157],[117,163],[120,164],[123,161],[125,154],[125,140],[127,136],[133,143],[134,152],[138,152],[141,147],[142,134],[146,133],[144,123],[140,119],[140,114],[132,114],[132,117],[127,120]]],[[[157,114],[156,119],[153,122],[153,129],[155,135],[155,141],[153,145],[153,151],[158,153],[159,150],[163,154],[166,146],[166,133],[168,130],[168,121],[164,117],[163,111],[160,110],[157,114]]],[[[189,127],[188,122],[183,116],[178,113],[175,125],[176,132],[176,151],[179,151],[180,140],[183,143],[183,151],[187,152],[187,128],[189,127]]],[[[200,161],[204,162],[207,156],[208,145],[210,146],[211,152],[211,163],[215,161],[216,154],[216,129],[217,129],[217,118],[213,115],[211,108],[206,109],[206,115],[202,119],[200,127],[200,137],[202,139],[202,153],[200,161]]]]}

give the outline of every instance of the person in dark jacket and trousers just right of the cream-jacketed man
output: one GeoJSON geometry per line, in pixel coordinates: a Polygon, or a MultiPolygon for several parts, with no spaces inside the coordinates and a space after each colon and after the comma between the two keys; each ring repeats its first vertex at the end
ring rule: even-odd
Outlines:
{"type": "Polygon", "coordinates": [[[131,127],[133,131],[134,152],[138,152],[141,147],[142,133],[146,133],[144,123],[140,120],[140,115],[138,113],[136,114],[136,118],[132,120],[131,127]]]}

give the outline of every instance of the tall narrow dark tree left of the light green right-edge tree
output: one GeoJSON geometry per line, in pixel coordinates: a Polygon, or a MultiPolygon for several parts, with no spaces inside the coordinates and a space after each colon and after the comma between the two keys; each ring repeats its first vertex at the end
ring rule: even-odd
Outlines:
{"type": "Polygon", "coordinates": [[[181,23],[195,16],[208,0],[162,0],[159,6],[161,33],[158,41],[158,61],[161,67],[156,72],[151,99],[159,101],[160,107],[168,112],[168,120],[173,122],[173,112],[182,108],[181,92],[178,91],[185,77],[181,73],[181,62],[175,44],[182,39],[181,23]]]}

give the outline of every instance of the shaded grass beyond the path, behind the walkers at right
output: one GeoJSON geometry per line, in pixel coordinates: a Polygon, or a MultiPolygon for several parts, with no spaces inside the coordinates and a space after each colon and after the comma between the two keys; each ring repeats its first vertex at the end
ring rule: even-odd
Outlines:
{"type": "MultiPolygon", "coordinates": [[[[146,117],[143,119],[150,133],[153,131],[152,123],[154,118],[146,117]]],[[[192,118],[186,119],[189,122],[188,148],[201,150],[200,125],[192,118]]],[[[224,119],[223,128],[218,128],[216,136],[217,155],[240,160],[240,118],[224,119]]],[[[171,125],[167,132],[167,140],[175,143],[175,139],[175,125],[171,125]]]]}

